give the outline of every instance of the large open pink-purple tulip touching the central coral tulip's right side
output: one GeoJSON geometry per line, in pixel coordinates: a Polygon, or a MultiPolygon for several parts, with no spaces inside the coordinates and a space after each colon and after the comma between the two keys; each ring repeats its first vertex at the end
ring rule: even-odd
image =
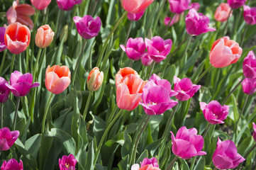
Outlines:
{"type": "Polygon", "coordinates": [[[169,98],[169,91],[165,86],[157,86],[153,81],[148,81],[145,85],[141,98],[143,102],[140,105],[148,115],[160,115],[178,103],[169,98]]]}

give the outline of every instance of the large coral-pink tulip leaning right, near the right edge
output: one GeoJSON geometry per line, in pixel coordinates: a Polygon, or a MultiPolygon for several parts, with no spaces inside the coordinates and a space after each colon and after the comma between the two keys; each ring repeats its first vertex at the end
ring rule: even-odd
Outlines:
{"type": "Polygon", "coordinates": [[[213,67],[227,67],[230,64],[238,62],[243,49],[239,47],[238,42],[230,40],[228,36],[220,38],[213,42],[210,52],[210,62],[213,67]]]}

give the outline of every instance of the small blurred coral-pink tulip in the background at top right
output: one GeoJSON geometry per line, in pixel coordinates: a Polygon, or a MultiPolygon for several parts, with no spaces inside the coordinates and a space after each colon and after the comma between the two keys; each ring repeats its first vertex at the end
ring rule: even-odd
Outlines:
{"type": "MultiPolygon", "coordinates": [[[[216,8],[214,18],[216,21],[225,22],[228,20],[228,15],[231,11],[230,6],[227,3],[221,3],[218,8],[216,8]]],[[[230,13],[231,16],[231,13],[230,13]]]]}

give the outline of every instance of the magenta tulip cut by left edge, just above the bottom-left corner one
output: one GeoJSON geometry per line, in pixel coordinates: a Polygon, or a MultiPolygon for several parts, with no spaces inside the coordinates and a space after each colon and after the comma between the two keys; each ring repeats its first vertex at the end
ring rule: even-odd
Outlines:
{"type": "Polygon", "coordinates": [[[10,131],[9,128],[0,129],[0,151],[8,150],[18,139],[20,132],[18,130],[10,131]]]}

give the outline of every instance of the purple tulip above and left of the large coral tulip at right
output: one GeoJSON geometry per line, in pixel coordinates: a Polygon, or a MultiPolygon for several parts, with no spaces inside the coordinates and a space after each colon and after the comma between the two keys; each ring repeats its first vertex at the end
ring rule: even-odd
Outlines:
{"type": "Polygon", "coordinates": [[[197,13],[194,8],[189,9],[189,14],[186,16],[185,21],[187,33],[193,36],[216,30],[215,28],[209,28],[209,18],[204,16],[203,13],[197,13]]]}

